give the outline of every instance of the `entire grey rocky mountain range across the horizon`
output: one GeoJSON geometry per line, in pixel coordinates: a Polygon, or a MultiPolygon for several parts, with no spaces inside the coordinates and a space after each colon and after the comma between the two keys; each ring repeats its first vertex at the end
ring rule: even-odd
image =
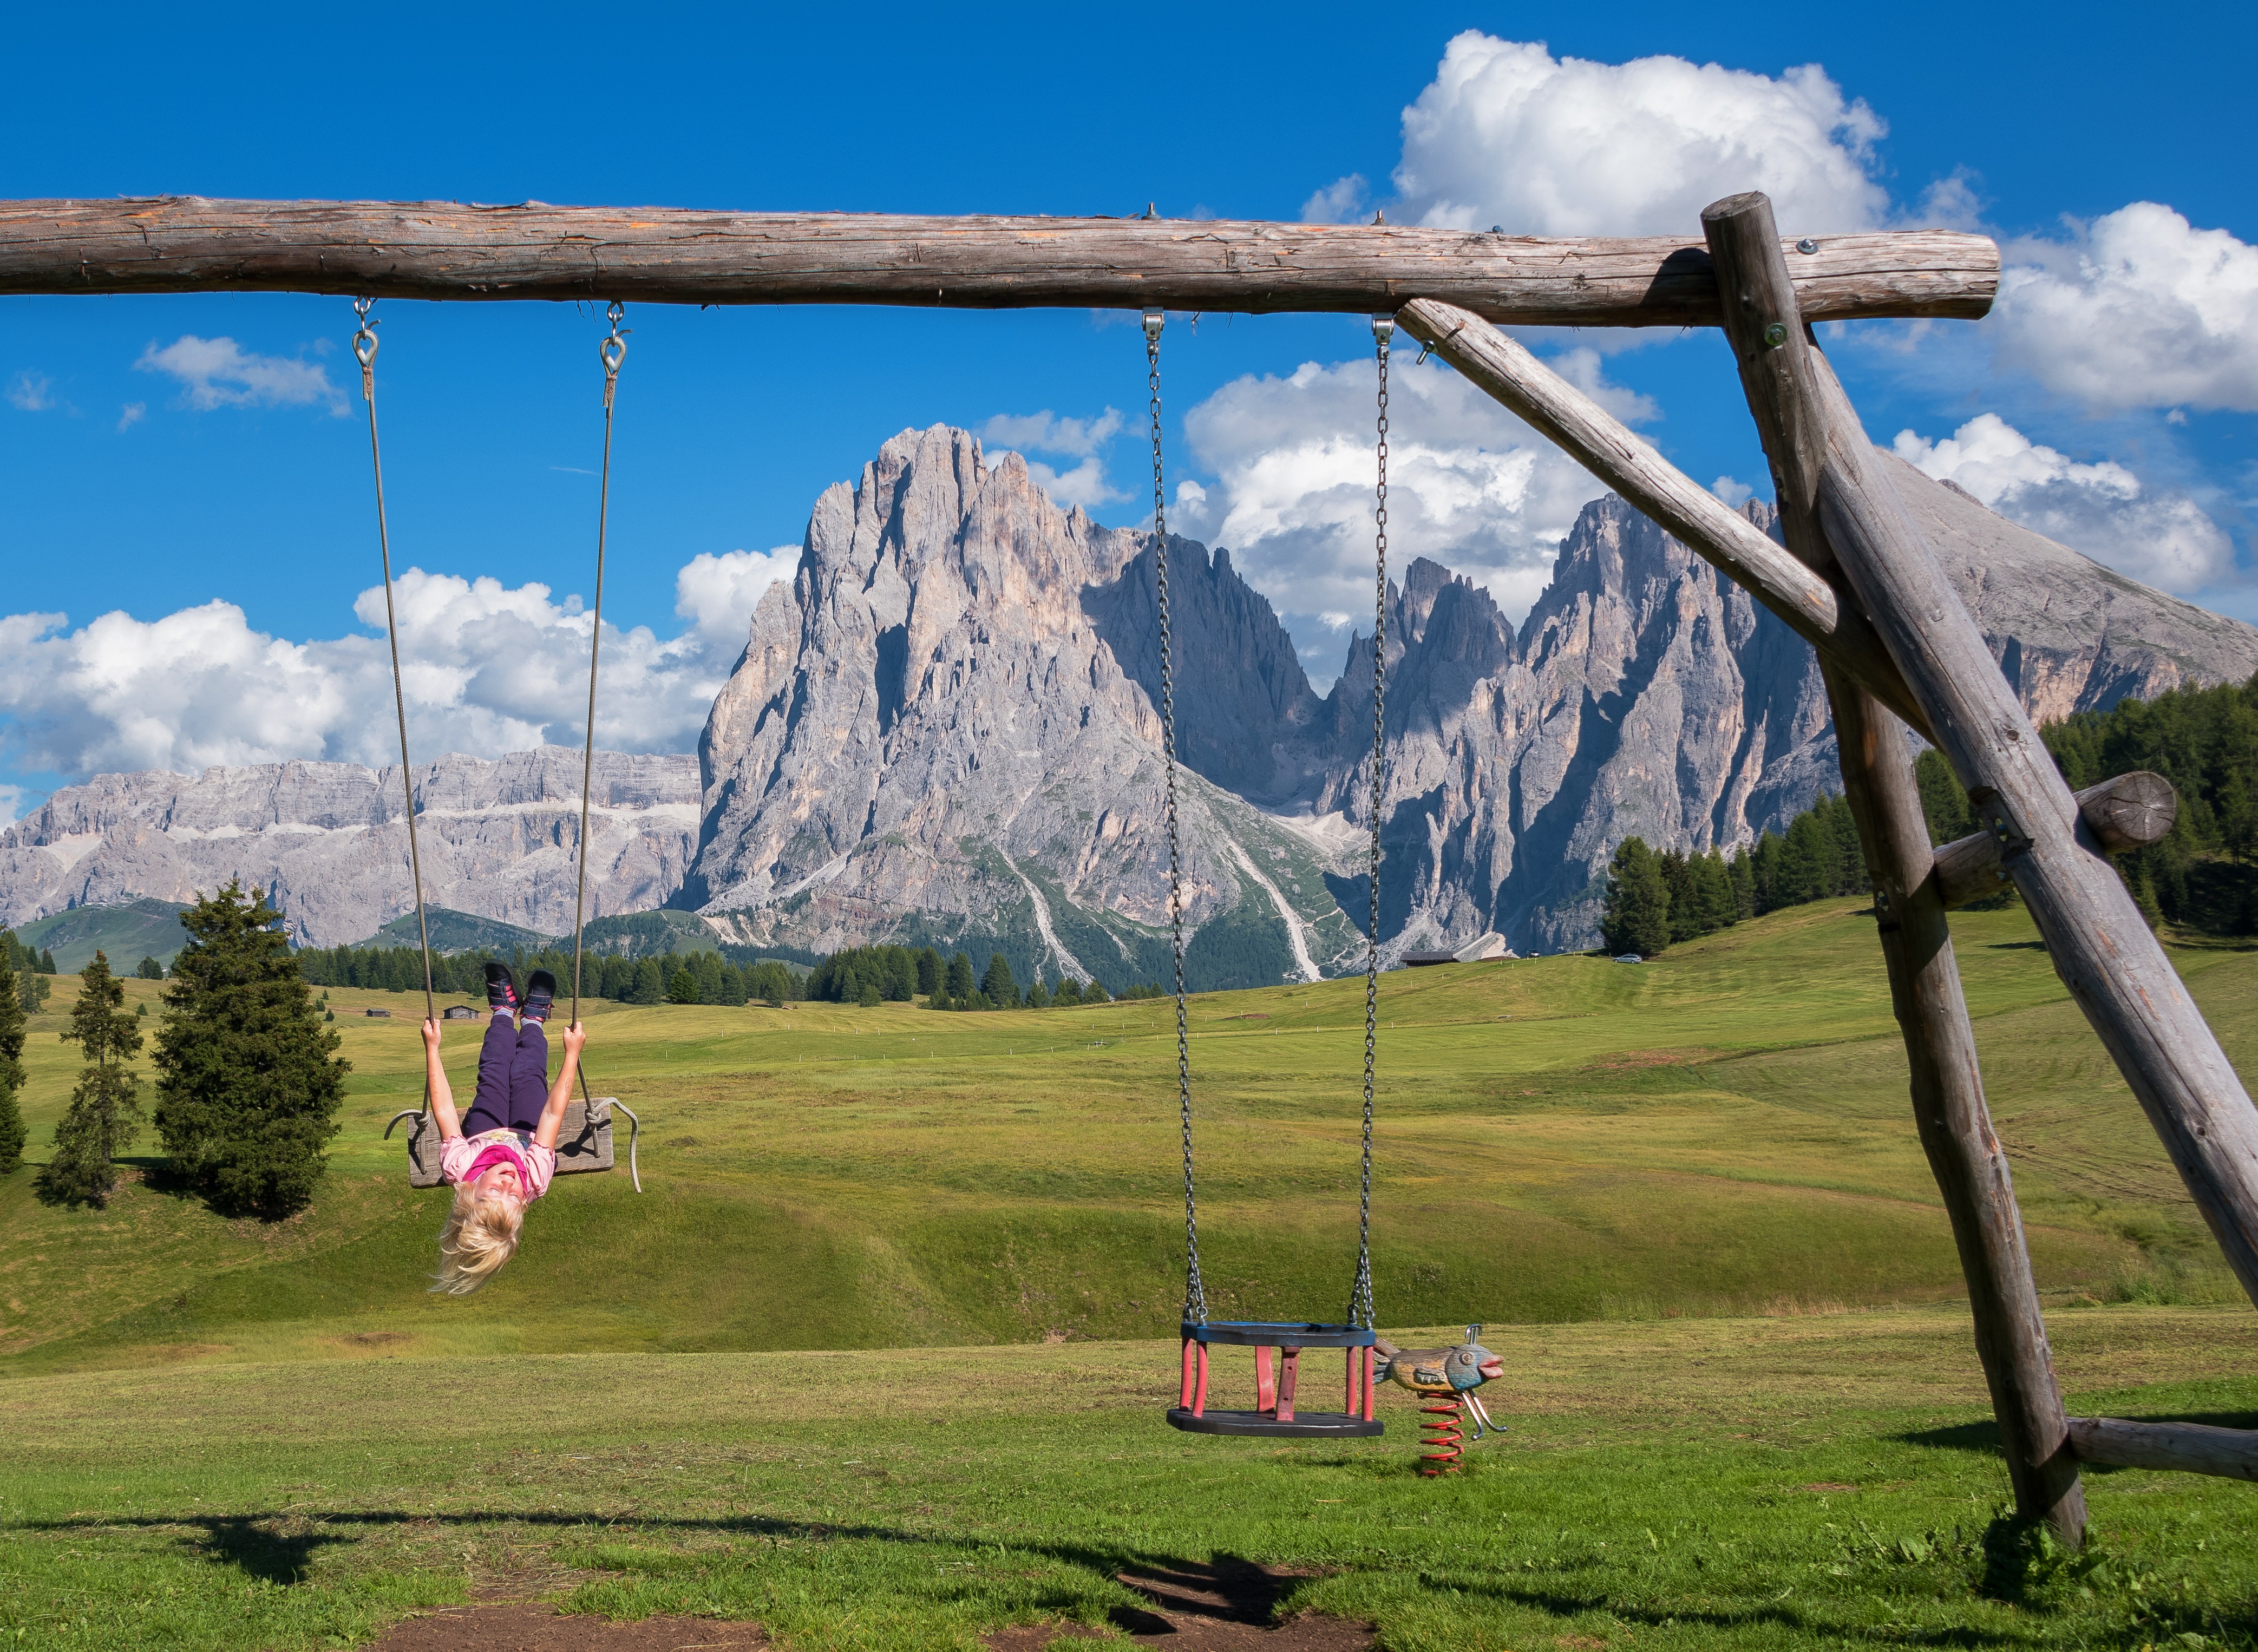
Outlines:
{"type": "MultiPolygon", "coordinates": [[[[1890,458],[2039,720],[2258,670],[2258,632],[2127,580],[1890,458]]],[[[1770,510],[1748,515],[1770,530],[1770,510]]],[[[1167,973],[1156,555],[966,431],[885,442],[817,501],[695,758],[601,754],[592,914],[718,939],[1000,950],[1025,979],[1167,973]]],[[[1224,548],[1170,542],[1179,855],[1194,988],[1357,966],[1371,636],[1316,695],[1224,548]]],[[[1520,625],[1432,560],[1389,591],[1382,939],[1587,946],[1614,844],[1732,846],[1836,785],[1811,650],[1619,499],[1520,625]]],[[[427,896],[571,923],[578,754],[415,774],[427,896]]],[[[97,776],[0,833],[0,919],[239,876],[303,941],[411,905],[397,770],[97,776]]]]}

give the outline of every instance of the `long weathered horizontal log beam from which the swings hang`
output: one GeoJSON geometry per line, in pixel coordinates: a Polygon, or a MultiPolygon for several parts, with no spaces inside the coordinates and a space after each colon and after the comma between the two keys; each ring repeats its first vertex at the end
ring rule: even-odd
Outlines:
{"type": "MultiPolygon", "coordinates": [[[[1998,246],[1983,235],[1872,230],[1786,246],[1811,320],[1976,318],[1998,291],[1998,246]]],[[[1244,314],[1445,298],[1517,325],[1718,320],[1709,251],[1662,235],[540,201],[0,201],[0,293],[221,291],[1244,314]]]]}

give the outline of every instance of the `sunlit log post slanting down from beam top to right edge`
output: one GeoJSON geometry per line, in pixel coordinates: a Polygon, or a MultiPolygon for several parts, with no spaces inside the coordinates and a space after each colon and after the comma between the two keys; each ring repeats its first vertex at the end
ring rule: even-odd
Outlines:
{"type": "MultiPolygon", "coordinates": [[[[2055,970],[2258,1302],[2258,1108],[2080,819],[2071,788],[1897,497],[1827,357],[1797,320],[1779,244],[1757,244],[1754,219],[1761,214],[1768,228],[1770,203],[1734,196],[1703,219],[1709,214],[1741,226],[1734,300],[1761,309],[1754,320],[1763,329],[1784,329],[1766,372],[1795,386],[1800,438],[1822,445],[1818,512],[1843,573],[1928,713],[1978,819],[1998,837],[2055,970]],[[1750,273],[1759,269],[1763,275],[1750,273]]],[[[1712,253],[1716,246],[1712,232],[1712,253]]]]}

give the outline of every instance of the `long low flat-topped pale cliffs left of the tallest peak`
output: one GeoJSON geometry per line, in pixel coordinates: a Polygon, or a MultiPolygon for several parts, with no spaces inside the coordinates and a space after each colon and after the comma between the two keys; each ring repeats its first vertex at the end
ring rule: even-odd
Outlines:
{"type": "MultiPolygon", "coordinates": [[[[698,763],[598,752],[589,916],[644,912],[682,887],[698,842],[698,763]]],[[[429,905],[544,934],[571,930],[580,754],[497,763],[447,756],[415,772],[429,905]]],[[[0,831],[0,921],[194,900],[230,878],[273,889],[291,937],[361,941],[411,912],[400,770],[269,763],[185,774],[99,774],[0,831]]]]}

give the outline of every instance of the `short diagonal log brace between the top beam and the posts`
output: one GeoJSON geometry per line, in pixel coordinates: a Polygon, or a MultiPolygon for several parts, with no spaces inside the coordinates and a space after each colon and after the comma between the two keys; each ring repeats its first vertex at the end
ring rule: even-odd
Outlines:
{"type": "Polygon", "coordinates": [[[1773,609],[1852,682],[1926,731],[1919,702],[1897,675],[1897,664],[1865,614],[1845,605],[1824,578],[1773,544],[1757,524],[1479,316],[1434,298],[1416,298],[1395,311],[1395,320],[1694,555],[1773,609]]]}

